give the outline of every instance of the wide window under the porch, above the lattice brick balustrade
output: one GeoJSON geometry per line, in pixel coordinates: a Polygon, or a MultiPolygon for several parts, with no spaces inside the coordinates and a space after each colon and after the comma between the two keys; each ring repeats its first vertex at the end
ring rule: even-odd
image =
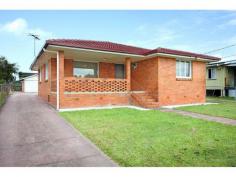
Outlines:
{"type": "Polygon", "coordinates": [[[73,75],[77,77],[98,77],[98,64],[90,62],[74,62],[73,75]]]}

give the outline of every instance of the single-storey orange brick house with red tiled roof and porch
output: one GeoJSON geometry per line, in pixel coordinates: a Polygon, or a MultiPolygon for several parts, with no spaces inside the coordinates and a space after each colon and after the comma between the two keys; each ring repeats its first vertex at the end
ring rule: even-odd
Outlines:
{"type": "Polygon", "coordinates": [[[204,103],[213,56],[87,40],[47,40],[31,65],[38,94],[58,110],[204,103]]]}

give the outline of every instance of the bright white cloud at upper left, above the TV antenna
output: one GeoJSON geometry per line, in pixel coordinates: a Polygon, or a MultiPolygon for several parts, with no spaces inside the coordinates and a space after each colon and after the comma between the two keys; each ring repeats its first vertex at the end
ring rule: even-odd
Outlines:
{"type": "Polygon", "coordinates": [[[17,18],[11,22],[8,22],[0,26],[0,32],[12,33],[16,36],[26,35],[28,33],[35,33],[40,36],[40,38],[52,38],[53,34],[51,32],[45,31],[41,28],[30,28],[28,22],[23,18],[17,18]]]}

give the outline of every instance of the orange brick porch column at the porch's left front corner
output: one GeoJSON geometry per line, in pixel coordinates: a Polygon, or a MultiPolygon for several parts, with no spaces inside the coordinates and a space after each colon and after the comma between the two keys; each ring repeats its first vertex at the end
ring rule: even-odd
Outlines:
{"type": "Polygon", "coordinates": [[[64,100],[64,89],[65,89],[64,60],[65,60],[64,51],[59,51],[59,109],[62,107],[64,100]]]}

